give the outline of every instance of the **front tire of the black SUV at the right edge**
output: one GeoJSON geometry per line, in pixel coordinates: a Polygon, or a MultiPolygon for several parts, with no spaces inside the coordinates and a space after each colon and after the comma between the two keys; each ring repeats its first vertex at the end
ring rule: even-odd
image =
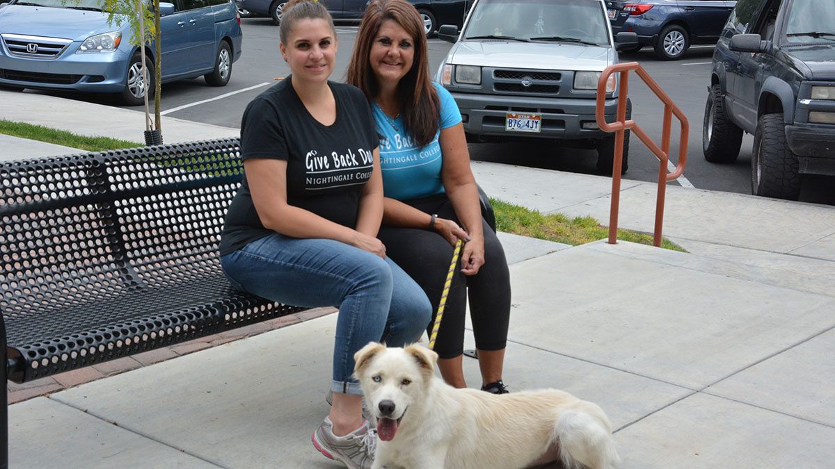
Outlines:
{"type": "Polygon", "coordinates": [[[786,139],[781,114],[765,114],[757,121],[751,154],[751,194],[797,200],[800,196],[800,164],[786,139]]]}

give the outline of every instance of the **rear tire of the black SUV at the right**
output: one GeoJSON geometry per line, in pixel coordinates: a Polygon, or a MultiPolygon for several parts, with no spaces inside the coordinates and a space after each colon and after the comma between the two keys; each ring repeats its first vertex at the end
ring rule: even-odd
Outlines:
{"type": "Polygon", "coordinates": [[[733,163],[742,145],[742,129],[728,119],[719,83],[711,86],[701,126],[701,151],[711,163],[733,163]]]}

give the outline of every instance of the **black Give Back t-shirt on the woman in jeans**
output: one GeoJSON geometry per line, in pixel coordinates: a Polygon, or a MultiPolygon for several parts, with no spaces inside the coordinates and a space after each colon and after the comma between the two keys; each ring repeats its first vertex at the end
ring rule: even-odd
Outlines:
{"type": "MultiPolygon", "coordinates": [[[[380,144],[371,108],[359,88],[328,82],[337,119],[321,124],[301,103],[288,77],[258,95],[240,124],[240,158],[287,160],[287,203],[335,223],[357,226],[359,193],[371,178],[380,144]]],[[[226,212],[220,255],[271,235],[243,183],[226,212]]]]}

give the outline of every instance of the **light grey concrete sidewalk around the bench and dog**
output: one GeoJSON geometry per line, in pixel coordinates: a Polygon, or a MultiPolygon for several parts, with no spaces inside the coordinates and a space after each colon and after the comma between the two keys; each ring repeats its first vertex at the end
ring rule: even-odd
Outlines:
{"type": "MultiPolygon", "coordinates": [[[[136,113],[38,96],[41,119],[22,97],[0,91],[0,118],[83,134],[82,113],[136,113]],[[76,124],[50,117],[62,113],[76,124]]],[[[179,125],[164,122],[167,143],[200,124],[179,125]]],[[[236,132],[193,139],[215,131],[236,132]]],[[[610,179],[472,167],[493,197],[608,222],[610,179]]],[[[624,181],[620,199],[620,227],[651,232],[655,184],[624,181]]],[[[690,253],[501,235],[514,290],[504,381],[599,403],[622,467],[832,466],[835,208],[670,185],[664,234],[690,253]]],[[[328,410],[327,312],[13,404],[11,466],[339,467],[310,443],[328,410]]],[[[464,366],[477,386],[478,363],[464,366]]]]}

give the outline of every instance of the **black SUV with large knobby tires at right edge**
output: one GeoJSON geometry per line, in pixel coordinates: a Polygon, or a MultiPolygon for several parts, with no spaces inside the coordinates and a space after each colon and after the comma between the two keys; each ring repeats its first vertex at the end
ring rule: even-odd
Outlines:
{"type": "Polygon", "coordinates": [[[705,159],[754,134],[751,192],[797,199],[801,174],[835,176],[835,1],[739,0],[713,53],[705,159]]]}

